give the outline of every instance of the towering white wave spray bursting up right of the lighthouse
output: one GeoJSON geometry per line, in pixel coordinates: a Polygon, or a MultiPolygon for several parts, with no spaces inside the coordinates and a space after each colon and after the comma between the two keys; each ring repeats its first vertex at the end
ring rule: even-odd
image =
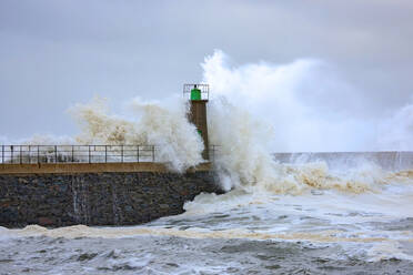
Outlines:
{"type": "Polygon", "coordinates": [[[361,193],[374,190],[376,183],[389,182],[391,176],[383,180],[385,173],[372,163],[340,172],[329,171],[324,162],[281,165],[273,161],[273,152],[289,147],[364,149],[374,132],[374,126],[364,121],[354,123],[355,120],[338,115],[320,119],[318,112],[303,104],[300,83],[319,62],[229,68],[225,59],[223,52],[215,51],[202,67],[203,81],[213,91],[209,106],[210,141],[221,145],[215,166],[226,190],[300,193],[311,187],[361,193]],[[359,131],[363,126],[366,130],[359,131]],[[344,133],[354,133],[357,139],[349,139],[344,133]]]}

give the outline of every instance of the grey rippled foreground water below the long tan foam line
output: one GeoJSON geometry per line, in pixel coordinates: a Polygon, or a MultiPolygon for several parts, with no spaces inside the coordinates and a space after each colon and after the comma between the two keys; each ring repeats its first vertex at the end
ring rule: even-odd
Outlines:
{"type": "Polygon", "coordinates": [[[410,261],[367,262],[334,243],[174,236],[0,244],[1,274],[411,274],[410,261]]]}

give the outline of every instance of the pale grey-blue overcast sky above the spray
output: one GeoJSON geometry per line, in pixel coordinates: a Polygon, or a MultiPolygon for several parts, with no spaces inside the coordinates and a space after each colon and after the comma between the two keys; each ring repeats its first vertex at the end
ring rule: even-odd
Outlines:
{"type": "Polygon", "coordinates": [[[413,1],[1,0],[0,135],[71,134],[66,110],[95,94],[180,92],[214,49],[239,64],[323,60],[380,114],[413,94],[413,1]]]}

